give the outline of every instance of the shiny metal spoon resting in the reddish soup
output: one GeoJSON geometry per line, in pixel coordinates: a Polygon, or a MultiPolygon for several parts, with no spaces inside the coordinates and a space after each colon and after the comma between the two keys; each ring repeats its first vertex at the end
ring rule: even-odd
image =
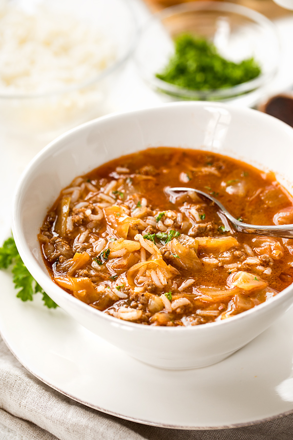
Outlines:
{"type": "Polygon", "coordinates": [[[176,198],[178,197],[178,192],[186,193],[189,191],[193,191],[196,194],[199,194],[202,197],[208,198],[213,203],[215,203],[220,211],[218,215],[220,219],[223,221],[225,227],[230,230],[230,232],[245,232],[246,234],[256,234],[256,235],[267,235],[270,237],[281,237],[293,239],[293,224],[284,224],[282,226],[270,226],[270,225],[259,225],[259,224],[249,224],[243,223],[233,217],[230,212],[227,211],[225,206],[222,205],[216,198],[211,197],[209,194],[204,193],[203,191],[194,189],[194,188],[186,188],[186,187],[167,187],[165,188],[165,193],[169,196],[170,201],[175,203],[176,198]],[[232,228],[228,223],[227,219],[232,224],[232,228]]]}

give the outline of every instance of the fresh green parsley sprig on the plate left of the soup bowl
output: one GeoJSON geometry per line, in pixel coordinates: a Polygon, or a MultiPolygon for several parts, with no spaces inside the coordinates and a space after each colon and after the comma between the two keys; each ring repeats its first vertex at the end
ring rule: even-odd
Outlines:
{"type": "Polygon", "coordinates": [[[42,300],[46,307],[58,307],[23,264],[13,237],[7,239],[0,248],[0,269],[7,269],[11,265],[13,265],[13,282],[15,288],[19,289],[16,296],[20,298],[21,301],[32,301],[33,295],[40,292],[42,293],[42,300]]]}

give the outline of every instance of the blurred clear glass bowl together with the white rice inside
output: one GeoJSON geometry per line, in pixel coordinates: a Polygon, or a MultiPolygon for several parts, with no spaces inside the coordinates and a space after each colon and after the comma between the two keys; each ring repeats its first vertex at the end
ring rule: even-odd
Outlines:
{"type": "Polygon", "coordinates": [[[3,0],[0,29],[0,126],[51,138],[105,113],[137,36],[127,0],[3,0]]]}

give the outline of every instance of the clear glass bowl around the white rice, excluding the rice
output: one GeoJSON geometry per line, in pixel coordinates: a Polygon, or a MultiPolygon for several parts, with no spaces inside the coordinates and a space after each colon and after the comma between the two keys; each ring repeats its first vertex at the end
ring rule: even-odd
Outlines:
{"type": "Polygon", "coordinates": [[[11,93],[0,88],[0,127],[17,135],[44,134],[47,139],[103,114],[108,93],[137,41],[131,4],[127,0],[15,0],[11,4],[32,16],[38,8],[53,16],[68,14],[98,30],[114,55],[104,70],[77,84],[47,87],[45,92],[11,93]]]}

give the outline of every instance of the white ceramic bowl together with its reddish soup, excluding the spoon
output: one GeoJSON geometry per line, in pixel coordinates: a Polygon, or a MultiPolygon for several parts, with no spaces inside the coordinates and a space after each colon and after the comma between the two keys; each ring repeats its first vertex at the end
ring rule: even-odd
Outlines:
{"type": "Polygon", "coordinates": [[[292,140],[280,121],[222,104],[87,123],[22,177],[21,257],[57,304],[130,355],[163,368],[218,362],[293,303],[293,243],[235,234],[215,206],[169,188],[206,191],[247,223],[291,223],[292,140]]]}

